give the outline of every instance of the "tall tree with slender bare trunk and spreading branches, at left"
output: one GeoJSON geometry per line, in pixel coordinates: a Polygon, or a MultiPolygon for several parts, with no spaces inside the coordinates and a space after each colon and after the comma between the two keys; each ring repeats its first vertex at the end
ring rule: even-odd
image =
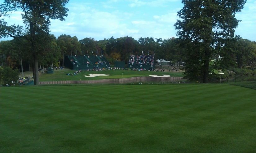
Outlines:
{"type": "MultiPolygon", "coordinates": [[[[0,20],[0,38],[20,36],[25,37],[31,42],[31,54],[33,55],[33,68],[38,69],[38,50],[36,45],[40,44],[42,35],[49,33],[50,19],[65,20],[68,9],[64,6],[69,0],[5,0],[0,5],[0,17],[9,17],[8,12],[22,11],[22,19],[24,21],[26,31],[19,25],[9,26],[4,19],[0,20]]],[[[34,72],[34,83],[39,84],[39,73],[34,72]]]]}

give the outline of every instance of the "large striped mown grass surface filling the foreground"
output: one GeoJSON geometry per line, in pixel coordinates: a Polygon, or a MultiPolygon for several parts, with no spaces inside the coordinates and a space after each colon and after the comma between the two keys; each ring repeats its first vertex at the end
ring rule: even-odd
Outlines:
{"type": "Polygon", "coordinates": [[[0,88],[0,152],[256,152],[256,90],[233,85],[0,88]]]}

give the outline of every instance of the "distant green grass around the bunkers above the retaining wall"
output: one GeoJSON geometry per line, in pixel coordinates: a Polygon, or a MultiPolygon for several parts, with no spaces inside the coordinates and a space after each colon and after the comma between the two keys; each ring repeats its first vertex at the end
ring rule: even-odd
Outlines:
{"type": "Polygon", "coordinates": [[[170,75],[183,77],[182,72],[152,72],[152,71],[128,71],[128,70],[105,70],[105,71],[85,71],[79,73],[79,75],[67,76],[66,73],[74,74],[74,70],[64,69],[55,70],[54,74],[41,74],[39,76],[40,81],[67,81],[67,80],[100,80],[100,79],[121,79],[136,76],[149,76],[149,75],[170,75]],[[96,76],[85,77],[89,74],[109,74],[110,76],[96,76]]]}

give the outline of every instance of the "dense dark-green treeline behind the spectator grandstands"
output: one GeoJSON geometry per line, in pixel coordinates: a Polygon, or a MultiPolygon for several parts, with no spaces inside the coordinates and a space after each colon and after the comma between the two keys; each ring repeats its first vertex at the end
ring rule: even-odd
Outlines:
{"type": "MultiPolygon", "coordinates": [[[[185,58],[184,49],[180,47],[177,38],[161,39],[153,37],[140,37],[135,40],[133,37],[108,38],[96,41],[94,38],[84,38],[78,40],[77,37],[69,35],[61,35],[56,38],[54,35],[49,35],[46,45],[38,47],[40,51],[38,58],[39,67],[62,66],[64,64],[65,55],[104,55],[111,63],[114,61],[129,60],[130,55],[155,55],[155,60],[164,59],[172,63],[179,63],[185,58]],[[87,53],[88,51],[88,53],[87,53]]],[[[24,39],[8,40],[0,42],[0,54],[5,55],[5,59],[1,62],[9,65],[11,68],[19,68],[30,70],[33,61],[30,51],[29,41],[24,39]]],[[[256,42],[246,39],[240,39],[226,47],[223,47],[229,56],[232,53],[232,63],[234,68],[251,68],[254,69],[256,62],[256,42]]],[[[217,59],[220,55],[214,55],[211,59],[217,59]]],[[[220,57],[225,58],[225,57],[220,57]]],[[[219,59],[220,60],[220,59],[219,59]]],[[[216,62],[221,63],[221,60],[216,62]]]]}

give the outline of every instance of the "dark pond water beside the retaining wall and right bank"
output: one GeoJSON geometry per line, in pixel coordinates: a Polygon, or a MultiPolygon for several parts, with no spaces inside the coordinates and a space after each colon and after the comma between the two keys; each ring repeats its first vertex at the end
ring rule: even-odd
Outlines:
{"type": "MultiPolygon", "coordinates": [[[[230,76],[230,78],[226,80],[209,80],[208,83],[226,83],[226,82],[241,82],[241,81],[256,81],[256,76],[230,76]]],[[[190,84],[190,83],[203,83],[202,80],[197,82],[195,81],[187,81],[187,80],[180,80],[180,81],[173,81],[173,82],[135,82],[132,84],[190,84]]]]}

